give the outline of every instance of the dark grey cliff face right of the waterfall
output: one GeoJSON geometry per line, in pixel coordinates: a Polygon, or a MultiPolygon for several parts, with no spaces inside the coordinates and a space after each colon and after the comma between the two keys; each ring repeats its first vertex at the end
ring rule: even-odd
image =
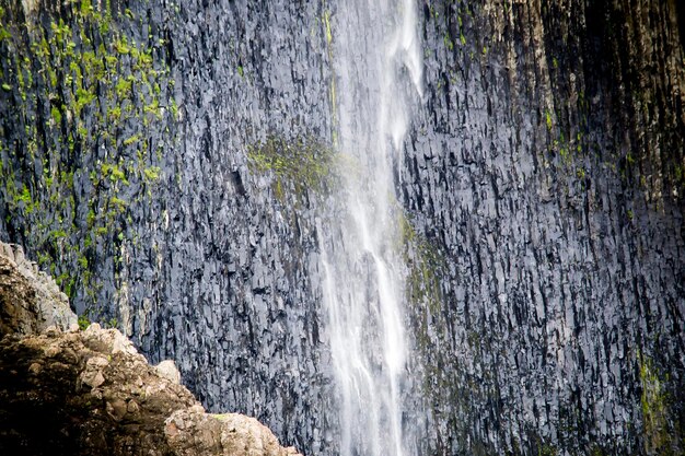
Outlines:
{"type": "Polygon", "coordinates": [[[428,96],[400,190],[440,258],[414,317],[439,446],[682,452],[674,2],[423,12],[428,96]]]}

